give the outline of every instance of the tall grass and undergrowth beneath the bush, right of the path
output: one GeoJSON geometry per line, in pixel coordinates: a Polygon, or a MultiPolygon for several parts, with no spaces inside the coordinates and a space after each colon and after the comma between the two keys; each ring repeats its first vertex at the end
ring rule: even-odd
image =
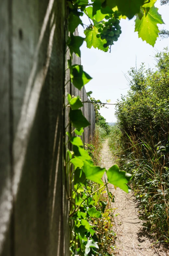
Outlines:
{"type": "Polygon", "coordinates": [[[157,240],[169,242],[169,162],[166,148],[151,130],[142,130],[138,138],[118,126],[111,127],[109,146],[121,170],[132,173],[133,189],[140,201],[140,214],[145,229],[157,240]]]}

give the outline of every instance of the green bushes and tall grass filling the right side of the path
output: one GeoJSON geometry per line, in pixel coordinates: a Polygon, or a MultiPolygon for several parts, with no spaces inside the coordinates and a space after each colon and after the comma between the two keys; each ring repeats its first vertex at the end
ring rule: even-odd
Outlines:
{"type": "Polygon", "coordinates": [[[131,68],[130,90],[116,107],[117,125],[110,148],[124,171],[134,175],[133,188],[145,228],[169,241],[169,52],[155,55],[156,68],[131,68]]]}

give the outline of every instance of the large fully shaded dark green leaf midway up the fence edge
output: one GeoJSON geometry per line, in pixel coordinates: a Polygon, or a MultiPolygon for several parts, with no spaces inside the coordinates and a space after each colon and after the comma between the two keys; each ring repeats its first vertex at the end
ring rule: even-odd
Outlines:
{"type": "Polygon", "coordinates": [[[70,110],[69,117],[72,122],[72,125],[79,130],[82,127],[87,127],[88,125],[90,125],[87,119],[83,116],[82,111],[79,109],[70,110]]]}

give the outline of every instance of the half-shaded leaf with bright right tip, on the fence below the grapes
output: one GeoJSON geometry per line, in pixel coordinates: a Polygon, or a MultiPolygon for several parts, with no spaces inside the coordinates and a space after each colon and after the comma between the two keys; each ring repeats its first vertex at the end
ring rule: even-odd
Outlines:
{"type": "Polygon", "coordinates": [[[70,71],[72,83],[79,90],[92,79],[92,77],[83,71],[81,65],[73,65],[70,71]]]}

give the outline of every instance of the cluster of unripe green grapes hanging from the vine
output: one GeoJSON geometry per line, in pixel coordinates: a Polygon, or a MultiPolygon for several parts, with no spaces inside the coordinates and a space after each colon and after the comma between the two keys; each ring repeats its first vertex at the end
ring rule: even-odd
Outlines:
{"type": "Polygon", "coordinates": [[[119,25],[120,21],[117,19],[118,16],[112,17],[113,15],[108,16],[106,15],[105,19],[108,20],[104,24],[99,23],[98,26],[98,34],[96,35],[97,38],[101,38],[102,40],[106,39],[107,43],[103,46],[104,48],[112,45],[114,41],[117,41],[120,37],[121,26],[119,25]]]}

